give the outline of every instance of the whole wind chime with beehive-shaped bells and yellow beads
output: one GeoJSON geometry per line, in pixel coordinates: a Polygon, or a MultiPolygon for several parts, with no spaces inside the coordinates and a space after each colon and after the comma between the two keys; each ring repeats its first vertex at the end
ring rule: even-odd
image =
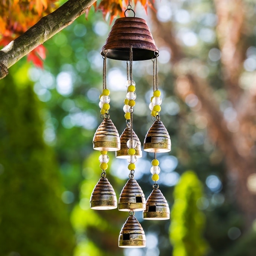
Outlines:
{"type": "Polygon", "coordinates": [[[160,121],[161,92],[158,90],[157,57],[158,49],[144,19],[135,17],[130,1],[125,11],[125,17],[115,21],[105,45],[102,47],[103,56],[103,88],[99,96],[99,107],[103,121],[99,125],[93,137],[93,149],[100,151],[99,161],[101,178],[92,191],[90,205],[95,210],[108,210],[117,207],[116,194],[106,178],[108,168],[108,151],[115,151],[117,158],[128,161],[128,181],[123,187],[118,200],[118,210],[127,211],[129,217],[121,229],[118,239],[119,247],[145,247],[146,237],[141,224],[134,216],[135,211],[143,211],[143,219],[166,220],[170,218],[168,203],[159,190],[160,167],[157,153],[171,150],[170,136],[160,121]],[[127,17],[131,11],[134,17],[127,17]],[[109,118],[110,98],[106,88],[106,58],[126,60],[127,62],[127,94],[124,100],[124,112],[127,127],[119,137],[118,131],[109,118]],[[144,193],[134,178],[135,163],[137,158],[142,157],[141,142],[133,129],[133,114],[135,106],[135,82],[132,80],[132,62],[136,60],[152,60],[153,63],[153,96],[151,97],[150,110],[152,126],[144,140],[144,151],[153,152],[154,159],[150,172],[154,181],[153,190],[145,200],[144,193]]]}

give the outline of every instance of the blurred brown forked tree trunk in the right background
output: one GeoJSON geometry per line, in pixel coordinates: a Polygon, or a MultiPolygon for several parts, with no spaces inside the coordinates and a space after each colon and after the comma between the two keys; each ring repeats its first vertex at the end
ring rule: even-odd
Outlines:
{"type": "Polygon", "coordinates": [[[183,58],[185,53],[175,37],[173,25],[170,30],[170,24],[159,22],[154,12],[152,19],[156,26],[155,38],[160,39],[158,47],[167,46],[171,49],[176,76],[175,91],[184,101],[188,94],[197,96],[198,104],[191,110],[207,119],[207,132],[213,144],[223,153],[226,175],[249,227],[256,219],[256,211],[252,207],[256,204],[256,192],[248,188],[248,178],[256,172],[256,92],[243,90],[239,85],[245,52],[249,47],[243,30],[246,10],[242,0],[215,0],[214,3],[218,17],[216,33],[221,52],[221,76],[227,100],[236,112],[233,121],[224,118],[207,80],[196,75],[198,66],[184,65],[190,60],[183,58]]]}

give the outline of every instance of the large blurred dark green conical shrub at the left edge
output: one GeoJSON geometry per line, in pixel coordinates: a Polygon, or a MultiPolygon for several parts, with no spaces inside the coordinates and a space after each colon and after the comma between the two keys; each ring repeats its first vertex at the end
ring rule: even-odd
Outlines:
{"type": "Polygon", "coordinates": [[[17,88],[11,75],[0,95],[0,255],[70,256],[73,230],[42,138],[39,101],[31,85],[17,88]]]}

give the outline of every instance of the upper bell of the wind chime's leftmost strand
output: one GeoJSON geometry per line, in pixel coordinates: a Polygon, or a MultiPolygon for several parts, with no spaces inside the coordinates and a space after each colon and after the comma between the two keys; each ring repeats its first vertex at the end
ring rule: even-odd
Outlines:
{"type": "Polygon", "coordinates": [[[104,118],[93,137],[93,149],[102,151],[120,150],[118,131],[109,118],[104,118]]]}

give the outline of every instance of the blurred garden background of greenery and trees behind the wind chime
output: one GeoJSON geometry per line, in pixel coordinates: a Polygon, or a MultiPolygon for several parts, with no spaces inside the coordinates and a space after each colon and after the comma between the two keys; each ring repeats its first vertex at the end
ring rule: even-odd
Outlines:
{"type": "MultiPolygon", "coordinates": [[[[43,68],[37,52],[34,63],[23,58],[0,80],[1,256],[256,255],[256,3],[156,0],[147,14],[142,4],[132,7],[160,52],[160,116],[172,150],[158,154],[158,184],[171,219],[136,212],[147,246],[121,249],[128,214],[89,207],[101,175],[92,148],[102,120],[100,52],[113,24],[92,8],[43,44],[43,68]]],[[[1,34],[3,46],[8,36],[1,34]]],[[[133,63],[142,143],[152,124],[152,73],[151,60],[133,63]]],[[[126,62],[108,59],[109,114],[119,134],[125,82],[126,62]]],[[[108,155],[107,178],[119,196],[128,163],[108,155]]],[[[143,151],[136,163],[146,198],[153,158],[143,151]]]]}

